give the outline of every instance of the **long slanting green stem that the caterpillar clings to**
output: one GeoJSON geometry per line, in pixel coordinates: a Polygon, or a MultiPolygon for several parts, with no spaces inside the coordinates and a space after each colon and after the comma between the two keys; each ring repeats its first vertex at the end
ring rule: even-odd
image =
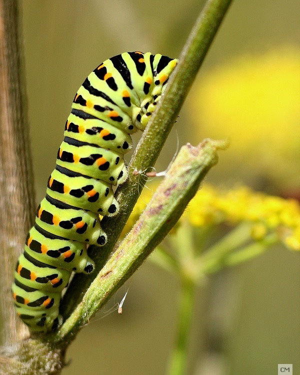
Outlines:
{"type": "Polygon", "coordinates": [[[230,2],[231,0],[207,1],[196,20],[163,97],[134,151],[128,166],[128,178],[116,191],[120,210],[116,216],[106,216],[101,222],[108,241],[101,248],[90,246],[90,256],[96,262],[96,269],[88,276],[82,274],[74,276],[61,303],[61,313],[64,318],[69,316],[80,302],[82,293],[86,291],[113,250],[145,183],[144,177],[133,175],[132,171],[146,170],[154,165],[230,2]]]}

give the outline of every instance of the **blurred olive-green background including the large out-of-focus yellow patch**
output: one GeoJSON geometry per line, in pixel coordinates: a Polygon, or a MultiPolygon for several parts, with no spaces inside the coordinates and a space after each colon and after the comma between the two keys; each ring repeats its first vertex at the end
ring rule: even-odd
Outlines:
{"type": "MultiPolygon", "coordinates": [[[[178,57],[203,3],[20,1],[37,203],[88,73],[124,51],[178,57]]],[[[177,142],[229,137],[229,149],[204,183],[300,196],[299,13],[297,1],[233,1],[157,170],[167,167],[177,142]]],[[[299,254],[278,246],[207,279],[198,290],[187,373],[271,374],[277,363],[293,363],[300,373],[299,275],[299,254]]],[[[176,278],[146,261],[79,333],[63,374],[164,374],[177,292],[176,278]],[[123,314],[105,314],[129,285],[123,314]]]]}

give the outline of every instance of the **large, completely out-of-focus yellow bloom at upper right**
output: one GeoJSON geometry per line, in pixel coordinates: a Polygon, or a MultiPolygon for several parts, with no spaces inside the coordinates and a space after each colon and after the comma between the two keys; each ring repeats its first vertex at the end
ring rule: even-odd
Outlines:
{"type": "Polygon", "coordinates": [[[228,172],[252,183],[263,176],[284,188],[300,183],[299,104],[296,46],[242,55],[205,72],[188,101],[198,136],[230,137],[222,177],[228,172]]]}

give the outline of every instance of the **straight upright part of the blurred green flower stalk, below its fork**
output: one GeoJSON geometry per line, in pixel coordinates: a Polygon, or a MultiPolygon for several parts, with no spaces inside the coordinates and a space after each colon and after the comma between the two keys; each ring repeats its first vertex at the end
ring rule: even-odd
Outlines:
{"type": "Polygon", "coordinates": [[[168,364],[168,375],[183,375],[185,372],[195,288],[193,280],[181,277],[177,333],[168,364]]]}

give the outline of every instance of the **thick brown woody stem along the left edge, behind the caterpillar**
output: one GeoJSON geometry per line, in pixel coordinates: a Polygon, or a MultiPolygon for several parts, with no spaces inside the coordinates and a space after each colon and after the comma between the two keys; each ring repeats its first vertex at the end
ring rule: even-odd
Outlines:
{"type": "Polygon", "coordinates": [[[0,0],[0,320],[2,344],[6,345],[28,335],[14,312],[10,288],[16,259],[34,217],[17,3],[0,0]]]}

